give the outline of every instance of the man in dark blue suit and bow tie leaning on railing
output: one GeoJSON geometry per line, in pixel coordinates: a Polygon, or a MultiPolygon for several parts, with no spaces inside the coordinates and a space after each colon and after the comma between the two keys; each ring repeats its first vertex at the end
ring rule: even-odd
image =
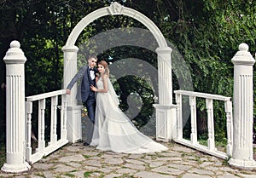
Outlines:
{"type": "MultiPolygon", "coordinates": [[[[71,82],[67,85],[66,93],[67,95],[70,95],[71,89],[73,88],[74,83],[76,83],[80,78],[82,78],[81,81],[81,88],[80,92],[81,95],[77,95],[77,100],[82,100],[83,105],[86,107],[88,112],[88,117],[90,118],[91,123],[94,124],[95,121],[95,110],[96,110],[96,98],[95,98],[95,92],[90,90],[90,86],[96,85],[96,61],[97,56],[96,54],[91,54],[88,58],[88,66],[83,66],[79,72],[73,77],[71,82]]],[[[91,137],[93,134],[93,124],[88,129],[87,139],[84,142],[84,146],[90,145],[91,137]]]]}

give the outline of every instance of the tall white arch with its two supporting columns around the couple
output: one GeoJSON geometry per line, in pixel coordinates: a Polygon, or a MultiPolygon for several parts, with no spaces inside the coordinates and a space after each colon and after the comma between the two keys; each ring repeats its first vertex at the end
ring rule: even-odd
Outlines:
{"type": "MultiPolygon", "coordinates": [[[[144,26],[148,28],[148,30],[153,34],[155,40],[157,41],[159,47],[156,49],[156,53],[158,55],[158,79],[159,79],[159,104],[154,105],[156,108],[156,118],[157,124],[165,125],[166,119],[170,120],[172,115],[171,110],[173,108],[172,105],[172,59],[171,53],[172,49],[167,46],[166,39],[163,34],[160,32],[160,29],[155,26],[154,22],[148,19],[147,16],[138,12],[135,9],[126,8],[119,3],[113,3],[108,7],[104,7],[102,9],[97,9],[90,14],[86,15],[82,20],[79,21],[77,26],[73,28],[73,31],[70,33],[66,45],[63,47],[64,52],[64,74],[63,74],[63,82],[64,88],[67,87],[67,84],[73,78],[73,76],[77,72],[77,52],[79,48],[75,46],[75,43],[80,35],[80,33],[84,30],[86,26],[88,26],[92,21],[101,18],[106,15],[126,15],[135,20],[141,22],[144,26]],[[161,119],[158,119],[161,118],[161,119]]],[[[80,107],[77,104],[75,99],[75,95],[77,93],[76,86],[73,87],[72,94],[67,99],[67,118],[68,124],[67,129],[69,141],[76,141],[81,138],[81,130],[78,128],[81,124],[80,122],[80,107]],[[74,123],[78,121],[77,123],[74,123]],[[68,128],[68,125],[70,128],[68,128]],[[77,126],[76,126],[77,125],[77,126]],[[71,130],[70,130],[71,129],[71,130]],[[77,131],[79,130],[79,131],[77,131]],[[76,132],[77,133],[74,133],[76,132]]],[[[168,121],[170,122],[170,121],[168,121]]],[[[158,126],[157,126],[158,128],[158,126]]],[[[160,129],[162,130],[162,128],[160,129]]],[[[158,132],[156,137],[160,140],[169,141],[172,139],[172,133],[166,133],[166,131],[158,132]],[[159,135],[158,135],[159,133],[159,135]]],[[[164,128],[166,130],[166,128],[164,128]]]]}

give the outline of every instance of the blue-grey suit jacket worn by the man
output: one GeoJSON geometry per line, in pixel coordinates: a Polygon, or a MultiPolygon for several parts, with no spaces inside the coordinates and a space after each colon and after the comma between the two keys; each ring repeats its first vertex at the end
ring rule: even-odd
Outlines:
{"type": "MultiPolygon", "coordinates": [[[[96,73],[95,69],[94,72],[96,73]]],[[[76,83],[81,78],[82,81],[79,84],[79,90],[76,98],[77,100],[86,101],[89,95],[95,95],[95,92],[90,90],[90,85],[92,84],[95,86],[96,84],[96,79],[90,79],[89,66],[83,66],[82,68],[80,68],[79,72],[73,77],[73,79],[67,85],[67,89],[72,89],[74,83],[76,83]]]]}

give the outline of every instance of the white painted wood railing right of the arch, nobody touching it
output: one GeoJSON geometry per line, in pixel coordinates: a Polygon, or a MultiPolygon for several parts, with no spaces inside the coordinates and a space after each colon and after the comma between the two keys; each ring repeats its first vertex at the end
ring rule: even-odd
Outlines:
{"type": "Polygon", "coordinates": [[[177,133],[174,141],[200,150],[201,152],[207,152],[218,158],[229,158],[232,156],[232,135],[233,135],[233,123],[232,123],[232,101],[230,97],[225,97],[222,95],[211,95],[199,92],[176,90],[177,102],[177,133]],[[191,119],[191,135],[190,141],[183,139],[183,96],[189,97],[190,106],[190,119],[191,119]],[[208,140],[207,146],[201,145],[197,140],[197,118],[196,118],[196,98],[204,98],[206,100],[207,106],[207,129],[208,129],[208,140]],[[226,129],[227,129],[227,147],[226,152],[218,151],[215,146],[214,137],[214,118],[213,118],[213,100],[223,100],[224,110],[226,113],[226,129]]]}

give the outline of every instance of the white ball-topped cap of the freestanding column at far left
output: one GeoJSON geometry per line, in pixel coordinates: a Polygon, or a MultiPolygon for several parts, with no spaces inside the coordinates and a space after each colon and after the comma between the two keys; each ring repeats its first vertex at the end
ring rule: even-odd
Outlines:
{"type": "Polygon", "coordinates": [[[10,49],[8,49],[3,58],[5,64],[24,64],[26,62],[26,57],[20,49],[20,42],[16,40],[12,41],[9,46],[10,49]]]}

